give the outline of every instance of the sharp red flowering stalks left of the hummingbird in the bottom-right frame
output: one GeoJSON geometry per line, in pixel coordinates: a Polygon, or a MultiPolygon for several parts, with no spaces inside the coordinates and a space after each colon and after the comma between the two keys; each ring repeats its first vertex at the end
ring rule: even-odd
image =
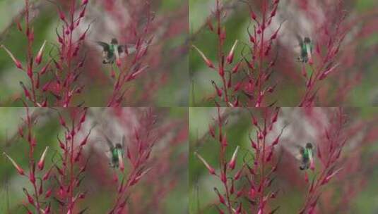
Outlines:
{"type": "MultiPolygon", "coordinates": [[[[249,156],[252,159],[244,158],[237,168],[237,155],[240,153],[240,146],[235,147],[230,158],[226,157],[226,150],[231,146],[225,131],[225,118],[218,108],[218,116],[215,125],[210,127],[209,134],[218,141],[219,150],[219,170],[213,168],[203,156],[195,153],[197,158],[206,166],[208,172],[217,177],[223,184],[223,190],[214,187],[215,194],[218,195],[218,202],[215,203],[219,213],[266,213],[269,208],[268,201],[275,199],[278,189],[273,189],[274,173],[277,163],[273,156],[276,146],[280,141],[280,134],[273,140],[269,140],[267,135],[272,132],[276,125],[279,109],[263,108],[263,118],[257,119],[251,116],[252,125],[256,129],[256,134],[250,137],[249,156]],[[234,171],[235,172],[232,172],[234,171]],[[247,184],[242,184],[242,180],[247,180],[247,184]],[[245,202],[247,199],[249,202],[245,202]]],[[[282,132],[281,132],[282,134],[282,132]]],[[[273,211],[273,210],[271,210],[273,211]]]]}

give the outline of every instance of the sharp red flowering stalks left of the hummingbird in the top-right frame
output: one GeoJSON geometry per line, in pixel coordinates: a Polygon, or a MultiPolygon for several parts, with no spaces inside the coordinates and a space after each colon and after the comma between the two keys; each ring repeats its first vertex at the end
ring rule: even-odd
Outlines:
{"type": "Polygon", "coordinates": [[[220,85],[217,84],[218,81],[211,80],[216,96],[220,99],[220,101],[215,99],[217,105],[260,107],[263,105],[264,97],[274,91],[275,85],[269,85],[267,81],[273,73],[273,65],[276,61],[276,58],[271,56],[274,55],[273,42],[277,39],[280,27],[272,33],[268,33],[267,28],[276,16],[278,3],[279,1],[272,1],[271,4],[268,4],[268,1],[263,1],[260,5],[261,17],[256,15],[252,6],[249,7],[253,29],[252,32],[247,31],[249,44],[242,44],[246,46],[248,54],[235,58],[235,49],[240,42],[235,40],[232,48],[225,51],[226,28],[223,25],[223,20],[227,13],[223,1],[215,1],[215,11],[209,16],[207,25],[218,39],[217,66],[206,56],[204,53],[206,50],[193,47],[199,52],[208,68],[217,71],[222,80],[220,85]]]}

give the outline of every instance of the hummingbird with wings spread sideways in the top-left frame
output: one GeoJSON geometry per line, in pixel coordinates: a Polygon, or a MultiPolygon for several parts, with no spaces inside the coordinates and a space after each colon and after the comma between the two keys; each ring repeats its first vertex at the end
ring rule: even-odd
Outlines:
{"type": "Polygon", "coordinates": [[[131,54],[136,52],[136,46],[134,44],[118,44],[118,40],[113,38],[110,44],[106,42],[97,42],[102,47],[102,63],[112,64],[119,59],[119,55],[123,52],[131,54]]]}

